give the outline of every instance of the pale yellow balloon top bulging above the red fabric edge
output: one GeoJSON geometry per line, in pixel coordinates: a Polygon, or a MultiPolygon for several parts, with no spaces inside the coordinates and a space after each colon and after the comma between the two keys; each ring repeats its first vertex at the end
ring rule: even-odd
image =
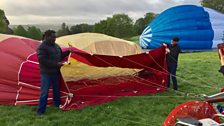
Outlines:
{"type": "Polygon", "coordinates": [[[63,36],[57,38],[56,42],[63,47],[68,47],[69,43],[73,47],[93,54],[125,56],[143,52],[133,42],[99,33],[80,33],[63,36]]]}

